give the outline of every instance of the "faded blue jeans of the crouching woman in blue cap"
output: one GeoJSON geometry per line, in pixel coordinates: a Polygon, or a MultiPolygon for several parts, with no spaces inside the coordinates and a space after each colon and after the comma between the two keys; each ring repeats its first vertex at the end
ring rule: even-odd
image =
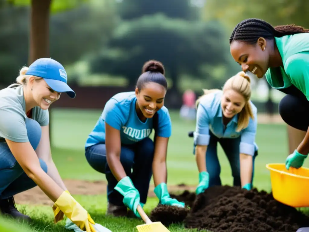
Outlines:
{"type": "MultiPolygon", "coordinates": [[[[36,150],[41,139],[41,126],[37,121],[27,118],[26,128],[29,142],[36,150]]],[[[47,173],[46,163],[39,160],[41,168],[47,173]]],[[[6,142],[0,142],[0,199],[9,198],[35,186],[36,183],[23,171],[6,142]]]]}

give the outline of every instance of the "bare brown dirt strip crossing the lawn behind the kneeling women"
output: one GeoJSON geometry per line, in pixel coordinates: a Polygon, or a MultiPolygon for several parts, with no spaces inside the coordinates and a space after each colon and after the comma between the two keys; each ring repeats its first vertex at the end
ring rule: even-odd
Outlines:
{"type": "MultiPolygon", "coordinates": [[[[107,183],[105,181],[86,181],[86,180],[64,180],[63,181],[72,195],[99,195],[106,194],[107,183]]],[[[148,196],[155,197],[154,185],[150,185],[148,196]]],[[[169,185],[170,192],[177,191],[195,191],[196,186],[188,186],[185,184],[169,185]]],[[[34,187],[14,196],[17,204],[31,205],[53,205],[52,200],[45,195],[39,188],[34,187]]]]}

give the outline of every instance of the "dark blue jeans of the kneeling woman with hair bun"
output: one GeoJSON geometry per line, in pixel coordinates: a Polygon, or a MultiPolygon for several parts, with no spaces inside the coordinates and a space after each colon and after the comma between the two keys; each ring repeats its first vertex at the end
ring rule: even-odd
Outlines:
{"type": "MultiPolygon", "coordinates": [[[[125,173],[131,178],[135,188],[138,190],[140,202],[144,204],[146,204],[152,176],[154,150],[154,143],[150,138],[145,138],[132,145],[121,145],[120,162],[125,173]]],[[[104,173],[106,176],[108,182],[108,202],[123,206],[123,196],[114,189],[118,181],[107,164],[105,144],[95,144],[87,147],[85,155],[91,167],[100,173],[104,173]]]]}

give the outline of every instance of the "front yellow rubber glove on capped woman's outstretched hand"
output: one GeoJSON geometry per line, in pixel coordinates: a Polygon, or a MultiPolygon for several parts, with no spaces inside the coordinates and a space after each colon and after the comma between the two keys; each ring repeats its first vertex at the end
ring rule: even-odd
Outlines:
{"type": "Polygon", "coordinates": [[[69,193],[63,191],[60,197],[55,202],[55,205],[70,218],[81,230],[87,232],[96,232],[95,222],[90,217],[86,209],[83,208],[69,193]]]}

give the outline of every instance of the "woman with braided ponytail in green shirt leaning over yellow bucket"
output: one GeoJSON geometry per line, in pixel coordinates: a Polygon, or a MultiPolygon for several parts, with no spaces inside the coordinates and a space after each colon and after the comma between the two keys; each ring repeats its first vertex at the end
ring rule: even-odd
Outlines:
{"type": "MultiPolygon", "coordinates": [[[[300,26],[273,27],[261,19],[245,19],[230,37],[230,51],[242,70],[286,93],[279,103],[282,119],[306,134],[286,158],[286,168],[299,168],[309,153],[309,30],[300,26]]],[[[289,135],[291,137],[291,134],[289,135]]]]}

